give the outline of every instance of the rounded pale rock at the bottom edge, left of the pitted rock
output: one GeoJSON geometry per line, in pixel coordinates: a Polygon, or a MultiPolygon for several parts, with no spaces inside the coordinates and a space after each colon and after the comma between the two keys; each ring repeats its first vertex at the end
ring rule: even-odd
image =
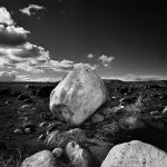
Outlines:
{"type": "Polygon", "coordinates": [[[42,150],[26,158],[21,167],[56,167],[56,158],[50,150],[42,150]]]}

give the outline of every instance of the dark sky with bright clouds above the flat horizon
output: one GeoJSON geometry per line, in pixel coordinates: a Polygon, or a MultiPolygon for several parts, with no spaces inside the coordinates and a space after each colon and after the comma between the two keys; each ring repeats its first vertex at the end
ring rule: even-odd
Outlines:
{"type": "Polygon", "coordinates": [[[166,80],[166,2],[0,1],[0,81],[57,81],[77,63],[106,79],[166,80]]]}

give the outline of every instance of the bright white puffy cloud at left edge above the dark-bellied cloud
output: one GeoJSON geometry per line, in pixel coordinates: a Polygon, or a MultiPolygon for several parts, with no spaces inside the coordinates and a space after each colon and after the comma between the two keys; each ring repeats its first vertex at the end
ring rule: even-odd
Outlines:
{"type": "Polygon", "coordinates": [[[4,7],[0,7],[0,23],[6,23],[8,26],[14,24],[9,11],[4,7]]]}

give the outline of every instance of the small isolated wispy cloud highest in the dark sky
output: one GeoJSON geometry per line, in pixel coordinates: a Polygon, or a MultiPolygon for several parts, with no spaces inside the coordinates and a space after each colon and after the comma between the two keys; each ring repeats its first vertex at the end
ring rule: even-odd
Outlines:
{"type": "Polygon", "coordinates": [[[20,12],[27,14],[28,17],[35,16],[38,11],[46,9],[42,6],[29,4],[27,8],[20,9],[20,12]]]}

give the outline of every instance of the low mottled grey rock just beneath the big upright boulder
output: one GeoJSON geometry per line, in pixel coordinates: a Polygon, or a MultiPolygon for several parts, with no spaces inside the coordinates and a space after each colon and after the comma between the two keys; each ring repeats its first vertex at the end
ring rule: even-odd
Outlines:
{"type": "Polygon", "coordinates": [[[56,130],[47,136],[46,144],[49,148],[65,147],[71,140],[76,140],[78,143],[86,141],[85,131],[79,128],[75,128],[63,132],[56,130]]]}

